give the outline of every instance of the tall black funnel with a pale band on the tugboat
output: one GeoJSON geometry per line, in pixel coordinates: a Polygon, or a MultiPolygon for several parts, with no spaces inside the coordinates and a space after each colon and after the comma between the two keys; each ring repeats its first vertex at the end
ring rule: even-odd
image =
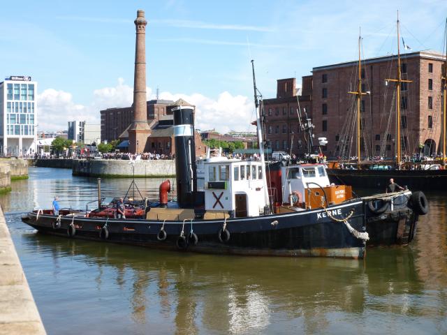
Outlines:
{"type": "Polygon", "coordinates": [[[180,207],[193,207],[197,189],[194,107],[181,100],[175,102],[171,110],[174,114],[177,202],[180,207]]]}

